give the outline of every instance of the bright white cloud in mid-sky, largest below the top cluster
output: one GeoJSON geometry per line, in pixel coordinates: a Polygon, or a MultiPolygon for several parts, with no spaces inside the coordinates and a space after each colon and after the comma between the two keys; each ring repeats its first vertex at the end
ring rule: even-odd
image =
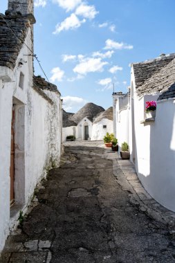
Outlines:
{"type": "Polygon", "coordinates": [[[93,57],[86,57],[82,59],[79,64],[75,66],[73,71],[75,73],[86,75],[89,72],[102,72],[104,69],[104,65],[108,64],[108,62],[102,62],[101,57],[93,58],[93,57]]]}

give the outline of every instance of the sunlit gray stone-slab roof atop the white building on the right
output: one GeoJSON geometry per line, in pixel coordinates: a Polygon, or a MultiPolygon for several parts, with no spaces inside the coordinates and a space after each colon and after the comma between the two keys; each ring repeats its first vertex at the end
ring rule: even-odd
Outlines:
{"type": "Polygon", "coordinates": [[[175,82],[175,53],[133,64],[138,96],[167,91],[175,82]]]}

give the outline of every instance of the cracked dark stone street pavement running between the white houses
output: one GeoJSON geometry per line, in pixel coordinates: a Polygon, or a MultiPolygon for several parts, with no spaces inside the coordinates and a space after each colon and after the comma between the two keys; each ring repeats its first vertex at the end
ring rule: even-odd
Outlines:
{"type": "Polygon", "coordinates": [[[0,262],[175,262],[174,213],[117,157],[100,143],[66,145],[0,262]]]}

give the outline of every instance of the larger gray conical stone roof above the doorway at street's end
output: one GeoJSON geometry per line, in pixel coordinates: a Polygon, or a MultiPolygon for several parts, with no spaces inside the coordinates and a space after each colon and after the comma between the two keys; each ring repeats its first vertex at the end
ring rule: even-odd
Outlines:
{"type": "Polygon", "coordinates": [[[100,114],[102,111],[104,111],[104,108],[90,102],[84,105],[82,109],[77,111],[77,113],[72,116],[72,120],[75,123],[80,123],[80,121],[84,117],[87,117],[89,118],[89,120],[91,120],[91,122],[93,122],[93,118],[100,114]]]}

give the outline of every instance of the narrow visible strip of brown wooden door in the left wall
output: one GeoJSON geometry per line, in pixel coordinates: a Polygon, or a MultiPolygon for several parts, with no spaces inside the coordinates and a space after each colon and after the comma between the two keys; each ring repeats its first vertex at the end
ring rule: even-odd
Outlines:
{"type": "Polygon", "coordinates": [[[12,109],[11,125],[11,153],[10,153],[10,205],[15,201],[14,181],[15,181],[15,110],[12,109]]]}

